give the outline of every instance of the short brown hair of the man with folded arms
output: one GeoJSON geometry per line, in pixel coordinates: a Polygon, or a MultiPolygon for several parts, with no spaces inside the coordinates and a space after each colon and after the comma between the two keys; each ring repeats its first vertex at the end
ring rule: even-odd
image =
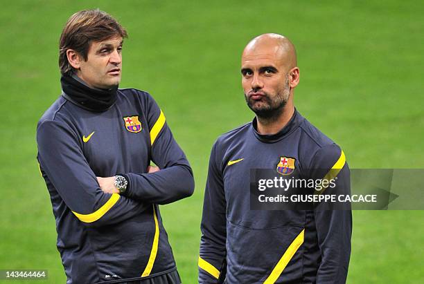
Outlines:
{"type": "Polygon", "coordinates": [[[73,70],[67,58],[67,50],[73,49],[87,60],[92,41],[104,41],[114,37],[127,37],[127,31],[107,12],[82,10],[73,14],[62,30],[59,41],[59,68],[62,75],[73,70]]]}

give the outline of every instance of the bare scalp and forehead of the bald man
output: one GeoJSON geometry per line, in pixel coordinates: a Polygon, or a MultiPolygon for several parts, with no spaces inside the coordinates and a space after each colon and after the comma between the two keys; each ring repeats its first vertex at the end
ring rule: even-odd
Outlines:
{"type": "Polygon", "coordinates": [[[243,50],[242,60],[263,56],[272,56],[283,61],[288,69],[297,66],[296,49],[292,41],[283,35],[267,33],[255,37],[243,50]]]}

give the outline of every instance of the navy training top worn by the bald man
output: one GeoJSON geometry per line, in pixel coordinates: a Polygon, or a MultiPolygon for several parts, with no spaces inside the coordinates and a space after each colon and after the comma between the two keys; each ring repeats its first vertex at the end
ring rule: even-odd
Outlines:
{"type": "Polygon", "coordinates": [[[305,179],[322,179],[326,169],[337,181],[335,188],[324,192],[349,193],[344,153],[297,111],[275,135],[260,135],[256,126],[255,119],[213,145],[204,193],[199,282],[345,283],[350,210],[252,210],[250,194],[251,169],[305,179]],[[284,168],[283,159],[294,163],[284,168]]]}

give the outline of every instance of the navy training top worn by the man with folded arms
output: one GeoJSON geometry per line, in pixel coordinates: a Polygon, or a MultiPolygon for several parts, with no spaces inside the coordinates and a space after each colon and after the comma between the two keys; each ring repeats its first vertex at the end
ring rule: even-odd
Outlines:
{"type": "Polygon", "coordinates": [[[37,144],[67,283],[176,269],[158,205],[190,196],[193,173],[148,93],[120,89],[101,113],[61,95],[38,122],[37,144]],[[161,170],[147,173],[151,161],[161,170]],[[117,174],[127,178],[127,191],[104,193],[96,176],[117,174]]]}

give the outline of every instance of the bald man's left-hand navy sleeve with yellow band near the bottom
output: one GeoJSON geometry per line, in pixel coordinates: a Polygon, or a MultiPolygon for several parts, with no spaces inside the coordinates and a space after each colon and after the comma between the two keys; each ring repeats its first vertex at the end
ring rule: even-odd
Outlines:
{"type": "Polygon", "coordinates": [[[225,270],[225,241],[227,219],[222,171],[216,160],[216,143],[211,151],[208,177],[204,191],[204,203],[200,238],[199,283],[218,283],[225,270]]]}

